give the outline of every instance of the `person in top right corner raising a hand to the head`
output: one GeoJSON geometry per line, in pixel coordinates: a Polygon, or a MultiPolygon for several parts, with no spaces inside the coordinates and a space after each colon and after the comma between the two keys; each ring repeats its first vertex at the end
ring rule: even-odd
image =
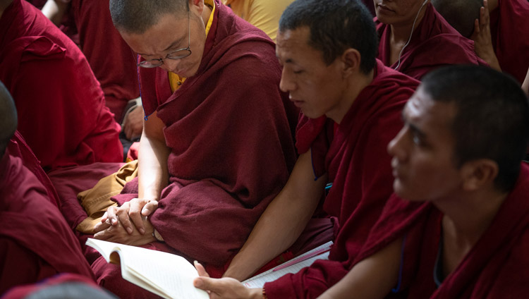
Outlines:
{"type": "Polygon", "coordinates": [[[529,68],[529,40],[524,38],[529,34],[528,1],[432,0],[432,3],[454,28],[464,28],[459,32],[474,40],[480,58],[523,83],[529,68]]]}

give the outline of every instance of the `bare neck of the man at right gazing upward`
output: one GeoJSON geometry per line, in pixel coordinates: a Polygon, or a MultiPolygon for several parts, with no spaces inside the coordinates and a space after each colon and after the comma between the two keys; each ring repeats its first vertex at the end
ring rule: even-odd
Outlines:
{"type": "Polygon", "coordinates": [[[490,226],[507,195],[491,186],[470,195],[436,201],[434,205],[444,213],[445,233],[472,247],[490,226]]]}

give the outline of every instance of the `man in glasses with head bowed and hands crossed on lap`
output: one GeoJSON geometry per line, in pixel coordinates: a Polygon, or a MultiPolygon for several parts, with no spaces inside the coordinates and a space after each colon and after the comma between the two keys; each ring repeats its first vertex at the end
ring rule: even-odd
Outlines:
{"type": "MultiPolygon", "coordinates": [[[[95,238],[224,267],[296,159],[298,109],[279,90],[274,43],[219,0],[111,0],[110,11],[141,56],[147,118],[138,179],[95,238]]],[[[122,298],[152,295],[102,257],[92,268],[122,298]]]]}

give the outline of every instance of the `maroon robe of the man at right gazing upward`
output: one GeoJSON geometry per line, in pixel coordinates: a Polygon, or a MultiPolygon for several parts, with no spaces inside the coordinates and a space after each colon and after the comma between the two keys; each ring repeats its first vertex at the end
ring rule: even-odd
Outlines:
{"type": "Polygon", "coordinates": [[[525,298],[529,293],[528,214],[529,166],[523,163],[518,182],[489,228],[437,288],[433,273],[443,214],[431,203],[407,202],[394,195],[358,261],[406,236],[399,293],[390,298],[525,298]]]}

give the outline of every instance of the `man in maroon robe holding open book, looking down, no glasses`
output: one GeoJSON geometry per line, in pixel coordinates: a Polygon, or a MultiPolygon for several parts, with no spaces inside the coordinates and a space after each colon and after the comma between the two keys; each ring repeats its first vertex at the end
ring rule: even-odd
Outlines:
{"type": "Polygon", "coordinates": [[[296,135],[301,154],[225,276],[246,279],[288,248],[327,182],[333,185],[323,207],[338,222],[334,245],[329,260],[263,289],[245,288],[235,279],[221,279],[219,285],[199,280],[198,287],[220,296],[233,292],[233,298],[315,298],[347,274],[391,195],[385,149],[418,85],[377,61],[376,49],[375,25],[358,1],[296,0],[286,8],[276,54],[283,64],[281,88],[303,111],[296,135]]]}

